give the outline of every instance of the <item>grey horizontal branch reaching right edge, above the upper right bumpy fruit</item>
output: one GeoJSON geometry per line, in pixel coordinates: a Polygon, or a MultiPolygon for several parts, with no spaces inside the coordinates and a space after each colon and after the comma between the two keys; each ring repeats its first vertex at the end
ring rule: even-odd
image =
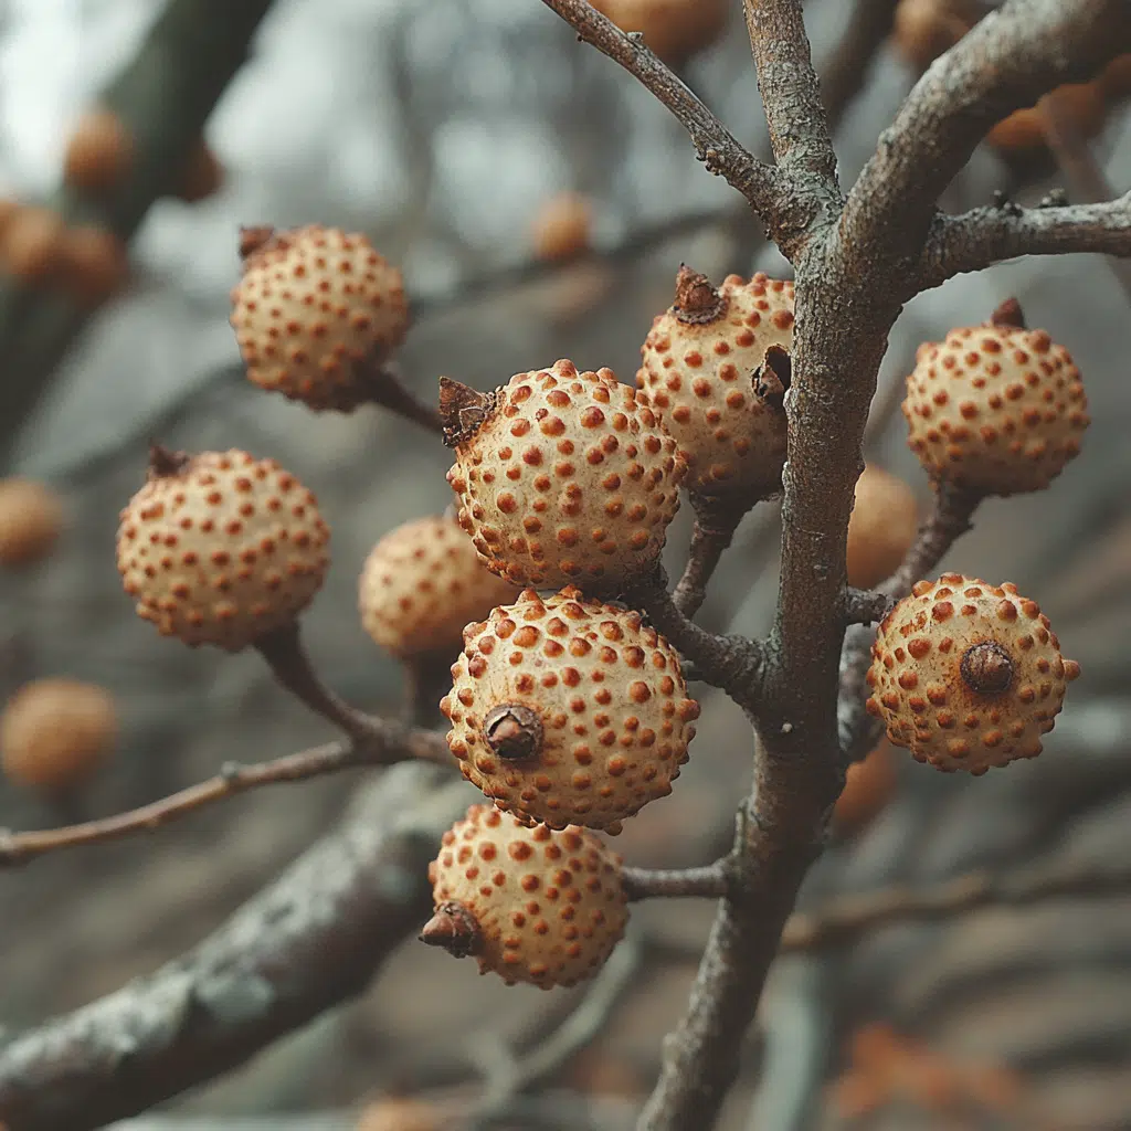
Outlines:
{"type": "Polygon", "coordinates": [[[1091,251],[1131,256],[1131,192],[1103,204],[1064,208],[975,208],[940,216],[923,252],[920,279],[939,286],[1017,256],[1091,251]]]}

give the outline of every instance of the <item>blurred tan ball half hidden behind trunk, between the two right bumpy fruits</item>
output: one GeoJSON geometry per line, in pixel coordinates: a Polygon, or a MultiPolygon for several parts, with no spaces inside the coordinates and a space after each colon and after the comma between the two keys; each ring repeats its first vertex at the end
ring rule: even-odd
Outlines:
{"type": "Polygon", "coordinates": [[[899,568],[918,529],[915,493],[903,480],[869,465],[856,481],[848,520],[848,584],[871,589],[899,568]]]}

